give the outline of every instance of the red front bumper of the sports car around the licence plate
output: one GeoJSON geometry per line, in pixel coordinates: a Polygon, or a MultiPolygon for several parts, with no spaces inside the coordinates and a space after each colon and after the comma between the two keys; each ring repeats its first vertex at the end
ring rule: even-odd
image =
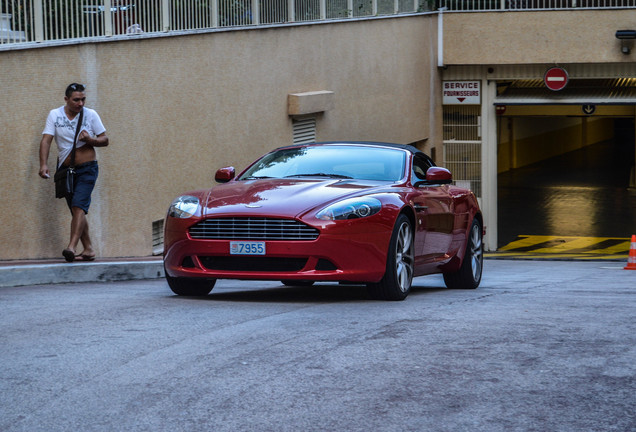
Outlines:
{"type": "Polygon", "coordinates": [[[182,228],[165,233],[164,266],[171,277],[378,282],[391,237],[384,224],[340,226],[311,241],[266,241],[266,255],[231,255],[230,240],[196,240],[182,228]]]}

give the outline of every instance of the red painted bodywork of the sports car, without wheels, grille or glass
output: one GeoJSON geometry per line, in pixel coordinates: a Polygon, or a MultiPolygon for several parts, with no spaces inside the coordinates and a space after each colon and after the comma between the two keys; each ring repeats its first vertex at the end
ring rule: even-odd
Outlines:
{"type": "MultiPolygon", "coordinates": [[[[409,155],[412,158],[412,155],[409,155]]],[[[192,217],[166,217],[164,266],[170,277],[210,279],[313,280],[375,283],[382,279],[387,250],[400,213],[415,227],[414,275],[455,271],[463,259],[475,196],[445,185],[414,187],[409,170],[400,182],[355,179],[231,180],[209,190],[188,192],[200,206],[192,217]],[[381,210],[368,217],[321,220],[316,213],[349,197],[372,196],[381,210]],[[273,218],[302,222],[318,230],[315,240],[267,240],[266,257],[300,260],[301,268],[250,268],[249,257],[231,257],[230,240],[194,239],[189,229],[209,218],[273,218]],[[228,262],[228,268],[210,263],[228,262]],[[244,267],[234,261],[244,260],[244,267]],[[212,265],[214,267],[214,265],[212,265]]],[[[258,260],[262,258],[255,258],[258,260]]]]}

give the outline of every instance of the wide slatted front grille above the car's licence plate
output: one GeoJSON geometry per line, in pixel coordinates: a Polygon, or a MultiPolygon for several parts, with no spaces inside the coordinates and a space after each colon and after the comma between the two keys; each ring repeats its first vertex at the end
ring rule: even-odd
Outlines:
{"type": "Polygon", "coordinates": [[[205,219],[190,228],[198,240],[315,240],[319,231],[292,219],[205,219]]]}

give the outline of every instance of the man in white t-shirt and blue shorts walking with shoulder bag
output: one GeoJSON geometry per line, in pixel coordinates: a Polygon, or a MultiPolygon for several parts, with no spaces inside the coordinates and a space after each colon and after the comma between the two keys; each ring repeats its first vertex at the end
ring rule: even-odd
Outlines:
{"type": "Polygon", "coordinates": [[[82,84],[73,83],[66,88],[65,105],[51,110],[40,141],[40,177],[51,177],[48,167],[49,152],[53,138],[57,144],[58,160],[56,169],[70,166],[71,152],[75,147],[75,189],[72,195],[66,196],[66,203],[71,210],[71,238],[62,252],[64,259],[72,262],[76,257],[82,260],[95,259],[95,251],[88,230],[86,214],[91,203],[91,193],[99,172],[95,147],[106,147],[108,137],[106,128],[95,110],[85,108],[86,88],[82,84]],[[84,111],[80,132],[75,143],[77,123],[80,112],[84,111]],[[83,252],[76,253],[77,245],[82,242],[83,252]]]}

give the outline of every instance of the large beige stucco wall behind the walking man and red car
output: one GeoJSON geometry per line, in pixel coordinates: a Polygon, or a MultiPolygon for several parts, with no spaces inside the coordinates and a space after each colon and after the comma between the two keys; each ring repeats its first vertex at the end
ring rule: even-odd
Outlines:
{"type": "Polygon", "coordinates": [[[289,93],[334,92],[318,140],[439,142],[436,37],[436,15],[419,15],[0,52],[0,259],[68,242],[68,210],[37,175],[68,83],[87,84],[110,137],[89,213],[98,254],[146,256],[175,196],[291,144],[289,93]]]}

